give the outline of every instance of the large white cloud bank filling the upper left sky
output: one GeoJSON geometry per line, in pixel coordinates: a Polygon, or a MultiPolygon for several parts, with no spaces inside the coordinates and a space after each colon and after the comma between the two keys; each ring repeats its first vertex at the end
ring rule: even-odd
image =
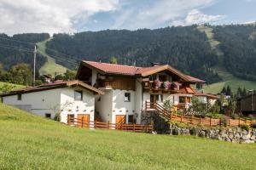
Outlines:
{"type": "Polygon", "coordinates": [[[80,20],[118,5],[119,0],[1,0],[0,32],[73,32],[80,20]]]}

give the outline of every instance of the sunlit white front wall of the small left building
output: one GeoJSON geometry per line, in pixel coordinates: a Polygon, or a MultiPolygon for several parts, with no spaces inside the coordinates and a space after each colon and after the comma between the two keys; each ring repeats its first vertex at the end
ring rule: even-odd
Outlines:
{"type": "Polygon", "coordinates": [[[90,115],[90,121],[94,121],[95,95],[84,88],[61,88],[61,122],[67,122],[67,115],[90,115]],[[83,91],[83,100],[74,99],[74,90],[83,91]]]}

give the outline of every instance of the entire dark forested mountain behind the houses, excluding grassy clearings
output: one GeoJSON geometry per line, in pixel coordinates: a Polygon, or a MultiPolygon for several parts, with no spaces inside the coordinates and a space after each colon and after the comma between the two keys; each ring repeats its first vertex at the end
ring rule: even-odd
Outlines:
{"type": "MultiPolygon", "coordinates": [[[[82,59],[108,62],[115,57],[119,64],[147,66],[151,62],[169,64],[180,71],[207,82],[219,82],[216,67],[222,67],[236,77],[256,80],[256,34],[253,25],[208,26],[211,27],[214,40],[223,52],[220,58],[212,49],[210,40],[198,26],[166,27],[155,30],[141,29],[84,31],[68,34],[55,34],[46,44],[46,53],[58,64],[74,69],[82,59]]],[[[1,37],[25,42],[40,42],[49,38],[49,34],[19,34],[8,37],[0,35],[0,62],[8,69],[11,65],[32,63],[32,44],[10,42],[1,37]]],[[[38,68],[46,59],[38,55],[38,68]]]]}

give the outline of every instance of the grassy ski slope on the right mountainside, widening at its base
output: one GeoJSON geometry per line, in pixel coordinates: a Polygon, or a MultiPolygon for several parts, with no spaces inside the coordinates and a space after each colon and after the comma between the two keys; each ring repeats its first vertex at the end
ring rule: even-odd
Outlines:
{"type": "Polygon", "coordinates": [[[212,28],[207,26],[198,26],[199,31],[204,31],[207,35],[208,42],[210,43],[212,50],[218,54],[219,64],[218,66],[212,68],[214,71],[218,73],[218,76],[223,79],[221,82],[212,83],[209,86],[204,86],[205,93],[218,94],[222,88],[230,86],[233,93],[236,93],[237,88],[247,88],[256,89],[256,82],[242,80],[241,78],[234,77],[230,72],[226,71],[223,66],[224,53],[218,48],[218,42],[214,39],[214,35],[212,33],[212,28]]]}

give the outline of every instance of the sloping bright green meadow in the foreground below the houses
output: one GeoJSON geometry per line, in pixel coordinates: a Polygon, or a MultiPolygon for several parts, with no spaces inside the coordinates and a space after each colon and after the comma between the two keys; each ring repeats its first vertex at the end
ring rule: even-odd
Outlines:
{"type": "Polygon", "coordinates": [[[87,130],[0,104],[0,169],[253,169],[256,144],[87,130]]]}

